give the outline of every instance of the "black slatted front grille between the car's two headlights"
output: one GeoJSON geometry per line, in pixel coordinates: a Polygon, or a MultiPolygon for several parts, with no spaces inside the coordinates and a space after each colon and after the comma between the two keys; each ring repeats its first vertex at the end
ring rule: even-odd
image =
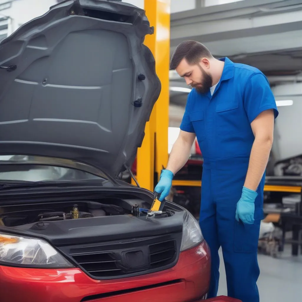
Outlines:
{"type": "Polygon", "coordinates": [[[181,236],[181,233],[170,234],[60,249],[92,278],[125,278],[174,266],[178,260],[181,236]]]}

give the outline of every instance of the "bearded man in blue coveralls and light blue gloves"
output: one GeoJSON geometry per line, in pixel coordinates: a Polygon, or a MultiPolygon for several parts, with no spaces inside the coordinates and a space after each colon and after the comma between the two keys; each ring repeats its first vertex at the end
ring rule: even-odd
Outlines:
{"type": "Polygon", "coordinates": [[[257,248],[265,168],[278,116],[275,98],[260,70],[227,57],[215,59],[196,41],[178,45],[170,69],[193,89],[155,191],[161,201],[169,194],[196,136],[204,158],[199,223],[212,261],[208,297],[217,296],[221,246],[228,296],[258,302],[257,248]]]}

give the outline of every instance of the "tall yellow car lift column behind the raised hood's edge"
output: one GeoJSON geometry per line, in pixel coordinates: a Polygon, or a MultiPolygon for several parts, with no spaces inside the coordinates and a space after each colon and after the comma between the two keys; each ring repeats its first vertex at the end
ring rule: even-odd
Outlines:
{"type": "Polygon", "coordinates": [[[170,1],[145,0],[144,9],[154,34],[147,35],[144,44],[155,58],[156,73],[162,88],[145,127],[142,146],[137,150],[137,181],[142,188],[153,191],[154,182],[168,162],[169,127],[169,61],[170,61],[170,1]]]}

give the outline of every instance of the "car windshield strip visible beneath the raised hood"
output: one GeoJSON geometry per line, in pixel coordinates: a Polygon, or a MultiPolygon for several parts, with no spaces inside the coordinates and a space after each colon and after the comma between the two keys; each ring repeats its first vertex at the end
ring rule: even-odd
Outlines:
{"type": "Polygon", "coordinates": [[[0,181],[81,181],[109,180],[99,169],[69,159],[43,156],[0,156],[0,181]]]}

